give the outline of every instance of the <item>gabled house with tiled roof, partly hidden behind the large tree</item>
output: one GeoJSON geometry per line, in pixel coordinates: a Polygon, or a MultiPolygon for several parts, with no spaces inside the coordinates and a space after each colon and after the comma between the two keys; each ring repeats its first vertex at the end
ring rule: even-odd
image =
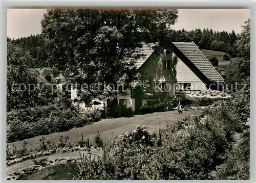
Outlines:
{"type": "MultiPolygon", "coordinates": [[[[118,103],[133,111],[144,104],[175,97],[180,90],[217,90],[219,84],[224,83],[223,77],[194,42],[172,42],[167,49],[143,43],[139,53],[143,57],[137,60],[136,67],[139,72],[146,73],[154,85],[151,92],[143,95],[133,91],[126,96],[118,95],[118,103]]],[[[72,96],[77,97],[75,89],[72,96]]]]}

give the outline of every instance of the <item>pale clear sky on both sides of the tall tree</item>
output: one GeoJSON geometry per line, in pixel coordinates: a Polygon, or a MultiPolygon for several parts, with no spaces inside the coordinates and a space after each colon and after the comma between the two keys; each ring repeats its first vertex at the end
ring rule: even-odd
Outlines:
{"type": "MultiPolygon", "coordinates": [[[[175,30],[212,29],[214,31],[234,30],[240,33],[244,22],[250,18],[249,9],[179,9],[175,30]]],[[[7,36],[10,38],[27,37],[41,33],[41,19],[46,9],[8,9],[7,36]]]]}

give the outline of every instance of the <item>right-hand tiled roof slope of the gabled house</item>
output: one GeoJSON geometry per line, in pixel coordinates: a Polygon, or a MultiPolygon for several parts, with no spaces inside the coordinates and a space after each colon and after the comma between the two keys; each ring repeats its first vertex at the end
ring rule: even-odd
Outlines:
{"type": "Polygon", "coordinates": [[[211,65],[208,59],[194,42],[173,42],[173,44],[209,79],[224,82],[220,73],[211,65]]]}

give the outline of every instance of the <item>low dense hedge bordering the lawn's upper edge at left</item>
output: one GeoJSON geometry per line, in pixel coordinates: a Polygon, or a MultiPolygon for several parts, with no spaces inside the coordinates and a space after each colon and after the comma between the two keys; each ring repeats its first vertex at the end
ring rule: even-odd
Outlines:
{"type": "Polygon", "coordinates": [[[79,114],[74,109],[61,109],[54,105],[12,111],[7,114],[7,142],[82,127],[99,121],[101,114],[101,110],[79,114]]]}

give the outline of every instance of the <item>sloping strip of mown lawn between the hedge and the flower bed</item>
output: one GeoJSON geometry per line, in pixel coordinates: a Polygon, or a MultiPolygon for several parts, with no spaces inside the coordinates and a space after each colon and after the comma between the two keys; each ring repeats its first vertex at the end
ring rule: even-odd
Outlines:
{"type": "MultiPolygon", "coordinates": [[[[178,119],[183,119],[189,115],[198,115],[199,113],[199,110],[183,111],[182,114],[178,114],[177,111],[168,111],[162,113],[136,115],[130,118],[104,119],[91,125],[74,128],[67,132],[53,133],[44,137],[46,138],[46,142],[51,141],[57,144],[59,142],[59,136],[63,135],[69,137],[70,143],[74,143],[81,139],[81,135],[83,135],[84,140],[86,140],[87,138],[94,138],[99,132],[103,139],[108,139],[111,136],[116,137],[121,135],[127,130],[134,130],[137,124],[145,125],[147,130],[155,130],[156,128],[159,128],[160,124],[161,127],[164,127],[166,123],[173,123],[178,119]]],[[[39,146],[39,139],[41,139],[41,136],[26,139],[24,141],[28,143],[28,149],[34,149],[35,147],[39,146]]],[[[24,141],[9,143],[9,146],[12,147],[12,144],[14,144],[17,148],[21,148],[24,141]]]]}

